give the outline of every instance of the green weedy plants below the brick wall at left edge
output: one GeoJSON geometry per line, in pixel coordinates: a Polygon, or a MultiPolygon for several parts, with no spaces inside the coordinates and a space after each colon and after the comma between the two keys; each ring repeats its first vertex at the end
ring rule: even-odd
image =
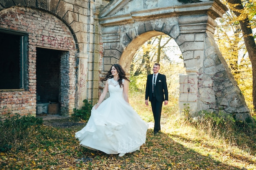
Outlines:
{"type": "Polygon", "coordinates": [[[27,139],[34,126],[43,124],[43,119],[31,115],[8,115],[4,121],[0,121],[0,152],[6,152],[12,148],[18,149],[27,139]]]}

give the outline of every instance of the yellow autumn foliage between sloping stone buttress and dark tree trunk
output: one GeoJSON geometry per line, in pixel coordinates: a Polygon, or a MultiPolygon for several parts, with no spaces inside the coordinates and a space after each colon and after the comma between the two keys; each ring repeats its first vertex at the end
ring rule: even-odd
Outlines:
{"type": "Polygon", "coordinates": [[[243,41],[243,33],[238,21],[234,22],[234,13],[228,11],[218,18],[215,38],[220,52],[225,58],[231,73],[245,96],[250,110],[253,110],[252,100],[252,64],[243,41]]]}

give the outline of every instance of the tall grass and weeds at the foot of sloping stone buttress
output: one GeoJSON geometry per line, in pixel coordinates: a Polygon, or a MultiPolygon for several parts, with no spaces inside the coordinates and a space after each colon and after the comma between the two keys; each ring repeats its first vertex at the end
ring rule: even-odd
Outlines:
{"type": "MultiPolygon", "coordinates": [[[[187,106],[189,107],[189,106],[187,106]]],[[[189,109],[182,110],[182,121],[188,126],[201,130],[204,134],[215,139],[222,139],[231,146],[237,146],[252,155],[256,155],[256,124],[238,121],[232,115],[219,112],[201,111],[191,117],[189,109]]],[[[255,117],[254,122],[256,122],[255,117]]]]}

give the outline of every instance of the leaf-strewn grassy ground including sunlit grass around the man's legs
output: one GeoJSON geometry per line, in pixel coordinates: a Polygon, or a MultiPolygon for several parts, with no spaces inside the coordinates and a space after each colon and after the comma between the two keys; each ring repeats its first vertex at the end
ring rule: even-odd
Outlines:
{"type": "MultiPolygon", "coordinates": [[[[139,115],[145,121],[153,121],[151,108],[144,102],[143,94],[130,95],[130,104],[139,115]]],[[[240,135],[232,133],[235,140],[226,138],[220,132],[214,136],[205,128],[197,128],[184,121],[175,100],[163,106],[162,113],[165,118],[162,121],[162,132],[155,136],[152,128],[148,129],[146,143],[139,151],[124,157],[79,146],[74,133],[83,126],[30,126],[26,140],[20,144],[16,142],[18,147],[0,152],[0,170],[256,169],[255,135],[246,137],[243,131],[239,131],[240,135]]]]}

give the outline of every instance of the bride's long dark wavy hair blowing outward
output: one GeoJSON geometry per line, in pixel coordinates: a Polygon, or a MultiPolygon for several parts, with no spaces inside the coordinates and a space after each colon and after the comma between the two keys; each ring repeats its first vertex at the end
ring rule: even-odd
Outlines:
{"type": "MultiPolygon", "coordinates": [[[[114,66],[117,69],[117,73],[119,74],[119,79],[117,81],[118,81],[120,87],[124,86],[122,79],[126,79],[130,82],[130,80],[126,77],[125,71],[120,64],[113,64],[112,66],[114,66]]],[[[110,70],[108,71],[106,76],[103,79],[101,79],[101,81],[106,81],[106,80],[114,77],[111,73],[112,66],[110,67],[110,70]]]]}

